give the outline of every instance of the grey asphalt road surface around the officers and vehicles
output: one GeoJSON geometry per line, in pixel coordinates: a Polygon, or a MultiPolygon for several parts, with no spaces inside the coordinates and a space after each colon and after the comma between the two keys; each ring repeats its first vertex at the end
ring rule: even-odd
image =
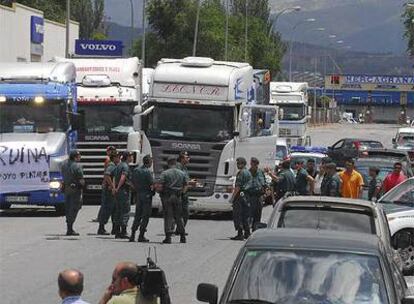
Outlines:
{"type": "MultiPolygon", "coordinates": [[[[330,145],[346,137],[366,137],[391,143],[396,126],[335,125],[313,128],[314,145],[330,145]]],[[[117,261],[144,263],[150,246],[157,249],[165,270],[173,303],[194,303],[197,284],[211,282],[223,287],[242,242],[229,240],[234,231],[225,216],[192,219],[187,244],[160,244],[162,220],[151,219],[149,245],[96,235],[97,206],[84,206],[75,225],[80,237],[64,236],[64,218],[52,210],[12,208],[0,213],[1,303],[58,303],[57,274],[75,267],[85,275],[84,298],[97,303],[110,283],[117,261]]],[[[264,211],[268,217],[270,208],[264,211]]],[[[131,219],[132,222],[132,219],[131,219]]],[[[413,282],[414,283],[414,282],[413,282]]]]}

